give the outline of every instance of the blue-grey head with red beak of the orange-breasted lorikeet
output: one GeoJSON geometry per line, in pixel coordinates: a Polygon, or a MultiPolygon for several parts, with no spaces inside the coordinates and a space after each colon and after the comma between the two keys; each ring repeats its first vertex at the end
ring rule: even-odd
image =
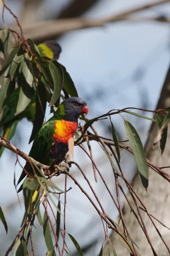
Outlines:
{"type": "Polygon", "coordinates": [[[71,97],[65,99],[59,105],[59,113],[64,116],[64,119],[71,122],[77,122],[78,117],[84,113],[88,114],[87,103],[79,97],[71,97]]]}

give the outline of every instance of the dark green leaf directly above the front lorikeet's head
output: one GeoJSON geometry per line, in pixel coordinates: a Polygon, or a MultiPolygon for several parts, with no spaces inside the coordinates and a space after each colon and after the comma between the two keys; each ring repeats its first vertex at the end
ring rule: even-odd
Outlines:
{"type": "Polygon", "coordinates": [[[76,87],[74,85],[73,80],[71,79],[71,76],[69,75],[69,73],[67,72],[66,68],[62,66],[62,70],[64,73],[64,82],[63,82],[63,89],[70,94],[71,97],[79,97],[76,87]]]}

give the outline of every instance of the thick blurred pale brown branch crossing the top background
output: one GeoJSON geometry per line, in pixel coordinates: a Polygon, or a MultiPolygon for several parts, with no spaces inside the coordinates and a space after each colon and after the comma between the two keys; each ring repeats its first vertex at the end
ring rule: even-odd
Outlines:
{"type": "MultiPolygon", "coordinates": [[[[25,38],[32,38],[37,44],[49,40],[55,39],[57,35],[60,35],[64,32],[77,30],[77,29],[85,29],[90,27],[101,27],[104,26],[106,23],[110,22],[117,22],[121,20],[128,20],[129,15],[140,12],[146,9],[149,9],[154,6],[158,6],[164,3],[168,3],[170,0],[157,0],[152,1],[148,4],[140,5],[134,7],[132,9],[127,9],[126,11],[120,12],[118,14],[113,14],[109,17],[105,17],[103,19],[85,19],[85,18],[69,18],[69,19],[58,19],[58,20],[45,20],[37,22],[36,24],[28,24],[27,26],[23,26],[23,33],[25,38]]],[[[161,22],[168,22],[167,18],[151,18],[153,21],[161,21],[161,22]]],[[[148,21],[148,18],[145,19],[148,21]]],[[[141,21],[140,19],[132,19],[133,22],[141,21]]],[[[144,20],[142,20],[144,21],[144,20]]],[[[17,26],[11,27],[11,29],[19,31],[17,26]]]]}

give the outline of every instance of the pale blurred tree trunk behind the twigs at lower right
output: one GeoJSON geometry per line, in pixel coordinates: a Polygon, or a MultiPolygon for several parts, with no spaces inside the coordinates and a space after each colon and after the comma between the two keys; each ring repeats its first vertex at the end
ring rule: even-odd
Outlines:
{"type": "MultiPolygon", "coordinates": [[[[156,109],[167,108],[170,106],[170,67],[167,72],[166,79],[161,91],[161,96],[156,109]]],[[[155,140],[156,134],[158,132],[158,127],[156,122],[153,122],[150,128],[149,137],[145,146],[146,157],[156,166],[170,166],[170,129],[167,135],[167,143],[163,155],[161,156],[161,151],[159,143],[153,148],[153,141],[155,140]]],[[[170,168],[164,169],[168,174],[170,174],[170,168]]],[[[159,174],[154,172],[152,169],[149,169],[149,186],[147,192],[143,189],[141,179],[138,174],[133,179],[132,183],[133,188],[147,207],[148,212],[154,217],[159,219],[167,227],[170,227],[170,184],[167,180],[161,177],[159,174]]],[[[136,209],[133,199],[128,195],[133,209],[136,209]]],[[[139,209],[140,210],[140,209],[139,209]]],[[[125,224],[130,233],[131,238],[139,246],[139,253],[141,256],[151,256],[153,252],[150,248],[141,227],[139,226],[138,221],[136,221],[133,212],[130,212],[130,207],[125,201],[123,211],[125,224]]],[[[153,244],[154,249],[156,250],[157,255],[159,256],[169,256],[167,248],[162,242],[160,236],[158,235],[155,227],[151,223],[150,219],[147,216],[147,213],[140,210],[144,224],[147,228],[148,235],[153,244]]],[[[167,245],[170,246],[170,230],[166,227],[163,227],[158,221],[153,219],[159,232],[166,241],[167,245]]],[[[123,247],[117,234],[114,232],[111,235],[111,242],[118,256],[129,256],[130,253],[123,247]]],[[[109,245],[106,244],[104,248],[103,255],[108,256],[109,245]]],[[[111,251],[111,250],[110,250],[111,251]]],[[[111,252],[111,255],[112,252],[111,252]]]]}

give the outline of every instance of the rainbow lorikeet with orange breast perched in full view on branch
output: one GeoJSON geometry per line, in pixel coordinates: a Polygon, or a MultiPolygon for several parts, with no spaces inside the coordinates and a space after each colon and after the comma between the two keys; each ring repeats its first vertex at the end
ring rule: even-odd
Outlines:
{"type": "MultiPolygon", "coordinates": [[[[51,166],[54,160],[59,165],[68,152],[68,140],[74,137],[77,130],[77,119],[81,113],[88,113],[88,107],[85,100],[79,97],[65,99],[58,107],[54,116],[52,116],[45,125],[42,126],[34,139],[29,156],[40,163],[51,166]]],[[[31,166],[26,163],[27,172],[31,172],[31,166]]],[[[17,185],[26,177],[23,170],[17,185]]],[[[22,190],[22,186],[18,192],[22,190]]],[[[38,188],[32,192],[30,213],[34,209],[34,200],[38,188]]]]}

